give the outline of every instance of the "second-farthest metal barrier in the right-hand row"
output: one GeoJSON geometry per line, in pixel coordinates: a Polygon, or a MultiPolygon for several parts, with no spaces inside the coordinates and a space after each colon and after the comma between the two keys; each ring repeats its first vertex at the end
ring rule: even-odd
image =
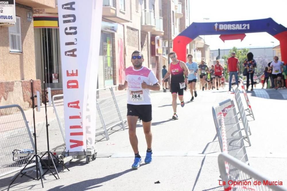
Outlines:
{"type": "Polygon", "coordinates": [[[241,97],[240,97],[240,93],[239,93],[239,90],[238,90],[237,86],[236,86],[235,89],[234,88],[232,88],[232,89],[233,89],[233,92],[235,94],[235,101],[236,101],[236,105],[237,105],[237,108],[238,108],[238,111],[239,111],[238,113],[240,115],[239,119],[241,119],[241,121],[242,121],[247,141],[249,143],[249,146],[251,146],[249,135],[248,135],[248,132],[251,135],[251,131],[250,131],[248,120],[247,120],[247,117],[246,117],[246,114],[245,114],[245,111],[244,111],[244,108],[243,108],[243,103],[242,103],[242,100],[241,100],[241,97]]]}

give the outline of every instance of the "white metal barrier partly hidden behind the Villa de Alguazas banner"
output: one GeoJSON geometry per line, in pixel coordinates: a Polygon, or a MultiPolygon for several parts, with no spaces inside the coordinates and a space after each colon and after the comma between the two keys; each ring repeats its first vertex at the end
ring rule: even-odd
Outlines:
{"type": "MultiPolygon", "coordinates": [[[[64,142],[66,142],[65,139],[65,120],[64,120],[64,95],[54,95],[52,98],[52,103],[54,107],[54,111],[59,123],[59,127],[61,130],[61,134],[63,137],[64,142]]],[[[97,103],[97,116],[96,116],[96,135],[104,134],[106,139],[108,140],[108,132],[106,131],[106,127],[103,123],[103,119],[101,117],[101,114],[99,112],[99,107],[97,103]]]]}

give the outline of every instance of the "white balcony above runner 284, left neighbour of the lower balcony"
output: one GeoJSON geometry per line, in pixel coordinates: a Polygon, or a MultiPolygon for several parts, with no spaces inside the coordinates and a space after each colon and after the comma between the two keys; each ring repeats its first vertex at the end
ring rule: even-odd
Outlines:
{"type": "Polygon", "coordinates": [[[149,9],[144,9],[141,12],[141,25],[142,30],[146,32],[152,32],[156,30],[154,11],[149,9]]]}

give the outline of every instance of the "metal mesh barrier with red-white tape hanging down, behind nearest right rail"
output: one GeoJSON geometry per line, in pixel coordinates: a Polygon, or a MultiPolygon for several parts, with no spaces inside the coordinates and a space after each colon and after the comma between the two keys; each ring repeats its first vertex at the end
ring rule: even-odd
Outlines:
{"type": "Polygon", "coordinates": [[[234,102],[227,99],[213,106],[212,115],[221,151],[224,144],[222,140],[222,124],[224,124],[228,154],[249,164],[234,102]]]}

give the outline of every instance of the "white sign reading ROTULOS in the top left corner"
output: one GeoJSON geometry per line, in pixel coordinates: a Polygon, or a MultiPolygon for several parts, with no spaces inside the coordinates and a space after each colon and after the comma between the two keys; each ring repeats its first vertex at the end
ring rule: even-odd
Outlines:
{"type": "Polygon", "coordinates": [[[0,0],[0,24],[1,23],[15,23],[15,1],[14,0],[0,0]]]}

